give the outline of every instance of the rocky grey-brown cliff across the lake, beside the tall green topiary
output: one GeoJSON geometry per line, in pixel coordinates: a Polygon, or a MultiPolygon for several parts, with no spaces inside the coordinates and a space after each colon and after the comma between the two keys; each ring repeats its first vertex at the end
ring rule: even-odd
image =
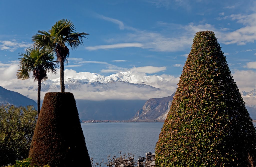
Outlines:
{"type": "Polygon", "coordinates": [[[163,98],[151,98],[142,107],[138,110],[132,120],[141,120],[141,119],[165,119],[170,106],[173,101],[173,93],[171,96],[163,98]]]}

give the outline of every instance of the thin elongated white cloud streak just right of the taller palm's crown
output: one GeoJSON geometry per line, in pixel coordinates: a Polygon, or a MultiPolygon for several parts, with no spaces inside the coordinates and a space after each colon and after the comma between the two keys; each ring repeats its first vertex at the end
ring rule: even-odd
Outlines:
{"type": "Polygon", "coordinates": [[[128,48],[128,47],[143,48],[143,44],[137,43],[137,42],[116,43],[116,44],[111,44],[111,45],[89,46],[89,47],[86,47],[86,49],[87,50],[99,50],[99,49],[128,48]]]}

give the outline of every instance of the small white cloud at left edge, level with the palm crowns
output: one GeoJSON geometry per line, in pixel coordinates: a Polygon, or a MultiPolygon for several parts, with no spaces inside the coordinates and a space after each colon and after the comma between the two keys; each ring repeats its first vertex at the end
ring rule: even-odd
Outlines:
{"type": "Polygon", "coordinates": [[[8,50],[10,52],[15,51],[18,48],[28,48],[32,43],[13,41],[0,41],[0,50],[8,50]]]}

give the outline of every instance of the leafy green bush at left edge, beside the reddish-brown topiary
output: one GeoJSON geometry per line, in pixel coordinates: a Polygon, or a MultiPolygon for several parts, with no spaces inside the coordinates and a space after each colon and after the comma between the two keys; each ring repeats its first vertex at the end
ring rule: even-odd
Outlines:
{"type": "Polygon", "coordinates": [[[0,166],[28,157],[36,121],[34,106],[0,106],[0,166]]]}

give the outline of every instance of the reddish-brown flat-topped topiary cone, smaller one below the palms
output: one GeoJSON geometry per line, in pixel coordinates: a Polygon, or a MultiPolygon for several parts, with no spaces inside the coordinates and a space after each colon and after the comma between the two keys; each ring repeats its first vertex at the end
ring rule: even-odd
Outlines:
{"type": "Polygon", "coordinates": [[[29,158],[38,166],[91,166],[72,93],[45,94],[29,158]]]}

